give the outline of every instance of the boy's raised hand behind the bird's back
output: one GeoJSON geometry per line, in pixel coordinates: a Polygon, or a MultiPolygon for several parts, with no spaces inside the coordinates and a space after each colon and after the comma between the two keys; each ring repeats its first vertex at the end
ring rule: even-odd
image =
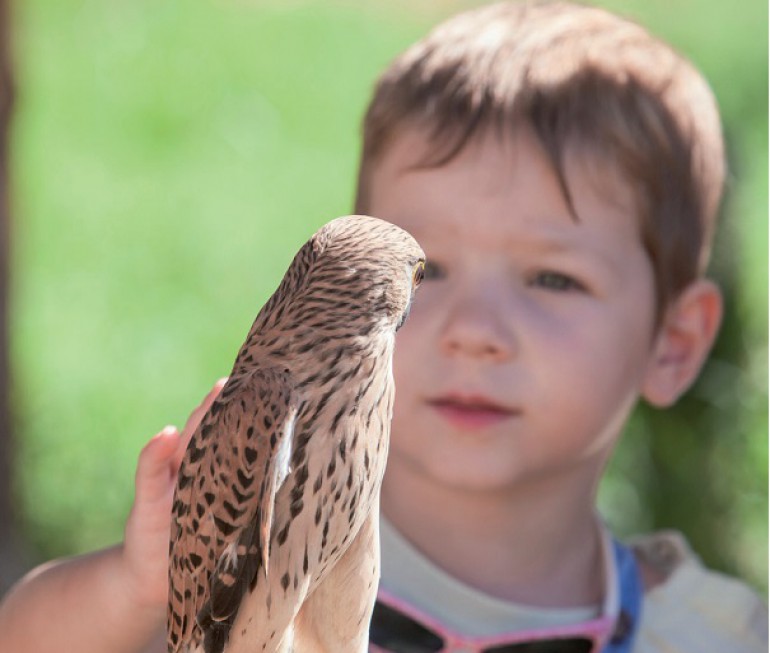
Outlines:
{"type": "Polygon", "coordinates": [[[169,527],[177,473],[192,434],[226,380],[216,383],[181,434],[167,426],[139,454],[134,504],[121,552],[125,588],[137,606],[155,609],[165,607],[168,600],[169,527]]]}

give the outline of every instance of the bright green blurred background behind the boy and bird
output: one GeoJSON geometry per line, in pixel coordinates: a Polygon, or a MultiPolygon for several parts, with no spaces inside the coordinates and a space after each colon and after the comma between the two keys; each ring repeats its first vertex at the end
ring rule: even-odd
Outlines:
{"type": "MultiPolygon", "coordinates": [[[[13,38],[15,487],[30,561],[117,541],[136,457],[229,371],[291,256],[350,212],[386,63],[473,2],[25,0],[13,38]]],[[[767,5],[615,0],[694,60],[730,152],[698,385],[637,412],[601,490],[767,591],[767,5]]]]}

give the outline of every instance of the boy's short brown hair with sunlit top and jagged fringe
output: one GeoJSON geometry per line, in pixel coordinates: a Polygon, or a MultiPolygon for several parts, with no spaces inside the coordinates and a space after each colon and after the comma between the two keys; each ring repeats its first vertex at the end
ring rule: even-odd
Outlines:
{"type": "Polygon", "coordinates": [[[440,166],[480,133],[522,122],[570,208],[568,146],[630,184],[660,314],[708,262],[725,176],[719,113],[689,62],[601,9],[503,2],[447,20],[404,52],[364,118],[356,212],[367,211],[369,176],[399,133],[424,131],[435,146],[424,163],[440,166]]]}

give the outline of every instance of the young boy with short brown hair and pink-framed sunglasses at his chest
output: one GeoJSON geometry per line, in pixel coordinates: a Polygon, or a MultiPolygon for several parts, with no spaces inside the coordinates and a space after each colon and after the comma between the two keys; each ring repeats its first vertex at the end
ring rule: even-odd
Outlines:
{"type": "MultiPolygon", "coordinates": [[[[397,344],[372,650],[766,650],[748,588],[678,536],[615,542],[595,507],[637,400],[676,401],[718,330],[723,179],[704,80],[598,9],[480,8],[385,72],[356,210],[429,263],[397,344]]],[[[121,548],[12,592],[1,650],[153,646],[183,445],[143,452],[121,548]]]]}

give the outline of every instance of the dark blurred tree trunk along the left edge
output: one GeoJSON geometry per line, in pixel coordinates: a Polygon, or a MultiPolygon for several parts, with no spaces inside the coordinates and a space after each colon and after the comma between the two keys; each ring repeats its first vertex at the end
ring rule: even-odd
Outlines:
{"type": "Polygon", "coordinates": [[[14,95],[10,32],[10,0],[0,0],[0,591],[7,589],[22,571],[11,474],[13,433],[9,399],[8,257],[10,251],[10,202],[8,198],[8,140],[14,95]]]}

